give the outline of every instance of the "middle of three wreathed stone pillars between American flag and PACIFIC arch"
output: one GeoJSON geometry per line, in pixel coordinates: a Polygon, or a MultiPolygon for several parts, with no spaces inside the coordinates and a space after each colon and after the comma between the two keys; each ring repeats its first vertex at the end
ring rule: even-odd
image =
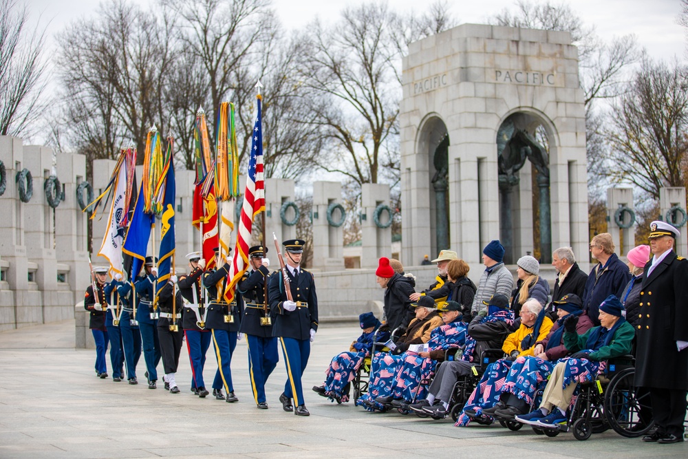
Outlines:
{"type": "MultiPolygon", "coordinates": [[[[313,182],[313,268],[321,270],[344,269],[343,226],[330,226],[327,207],[341,204],[339,182],[313,182]]],[[[339,222],[344,215],[333,211],[332,220],[339,222]]]]}

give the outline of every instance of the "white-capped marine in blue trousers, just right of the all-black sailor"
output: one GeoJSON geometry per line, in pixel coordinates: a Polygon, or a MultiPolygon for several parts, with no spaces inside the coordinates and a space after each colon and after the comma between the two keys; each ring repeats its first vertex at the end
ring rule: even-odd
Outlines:
{"type": "Polygon", "coordinates": [[[205,317],[205,304],[201,295],[202,276],[206,261],[200,258],[200,253],[197,252],[186,255],[186,258],[189,259],[189,275],[180,276],[177,285],[182,297],[197,306],[199,316],[196,316],[195,310],[189,308],[189,305],[184,304],[182,324],[191,362],[191,392],[204,398],[209,392],[203,381],[203,367],[206,363],[206,352],[211,345],[211,333],[206,330],[206,324],[202,323],[205,317]]]}

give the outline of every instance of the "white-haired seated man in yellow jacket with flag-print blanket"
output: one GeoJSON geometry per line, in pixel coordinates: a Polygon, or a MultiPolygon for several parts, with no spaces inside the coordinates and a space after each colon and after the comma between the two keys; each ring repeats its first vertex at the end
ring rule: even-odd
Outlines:
{"type": "Polygon", "coordinates": [[[533,356],[535,343],[541,341],[552,328],[552,320],[547,317],[539,300],[529,298],[523,304],[521,311],[521,325],[504,340],[502,350],[508,355],[505,359],[499,359],[491,363],[480,379],[480,383],[473,389],[473,394],[464,406],[464,412],[458,417],[456,425],[464,427],[471,420],[477,420],[480,424],[491,424],[492,417],[513,416],[510,413],[498,412],[497,406],[499,394],[502,393],[502,385],[513,361],[527,356],[533,356]]]}

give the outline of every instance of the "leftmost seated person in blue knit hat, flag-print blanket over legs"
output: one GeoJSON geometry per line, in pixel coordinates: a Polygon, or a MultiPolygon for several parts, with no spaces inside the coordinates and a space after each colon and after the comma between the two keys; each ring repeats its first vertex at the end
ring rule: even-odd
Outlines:
{"type": "Polygon", "coordinates": [[[372,312],[364,312],[358,316],[361,325],[361,336],[349,348],[349,352],[341,352],[332,358],[330,366],[325,370],[325,383],[313,386],[313,391],[337,403],[349,401],[351,381],[354,381],[358,368],[366,357],[370,356],[374,341],[387,341],[389,332],[378,332],[380,321],[372,312]]]}

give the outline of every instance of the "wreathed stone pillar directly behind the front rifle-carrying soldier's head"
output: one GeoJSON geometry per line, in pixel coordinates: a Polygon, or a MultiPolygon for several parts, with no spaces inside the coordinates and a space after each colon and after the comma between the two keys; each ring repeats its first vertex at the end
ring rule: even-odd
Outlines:
{"type": "MultiPolygon", "coordinates": [[[[294,239],[297,237],[296,225],[288,226],[282,223],[279,217],[281,206],[286,202],[294,202],[294,180],[287,180],[283,178],[268,178],[265,180],[265,225],[266,225],[266,246],[270,252],[268,259],[270,259],[270,268],[279,266],[277,261],[277,254],[275,253],[275,242],[272,240],[272,233],[277,236],[277,242],[280,244],[286,239],[294,239]]],[[[291,220],[294,217],[294,210],[289,209],[286,213],[286,218],[291,220]]],[[[301,218],[308,218],[308,215],[301,215],[301,218]]]]}

